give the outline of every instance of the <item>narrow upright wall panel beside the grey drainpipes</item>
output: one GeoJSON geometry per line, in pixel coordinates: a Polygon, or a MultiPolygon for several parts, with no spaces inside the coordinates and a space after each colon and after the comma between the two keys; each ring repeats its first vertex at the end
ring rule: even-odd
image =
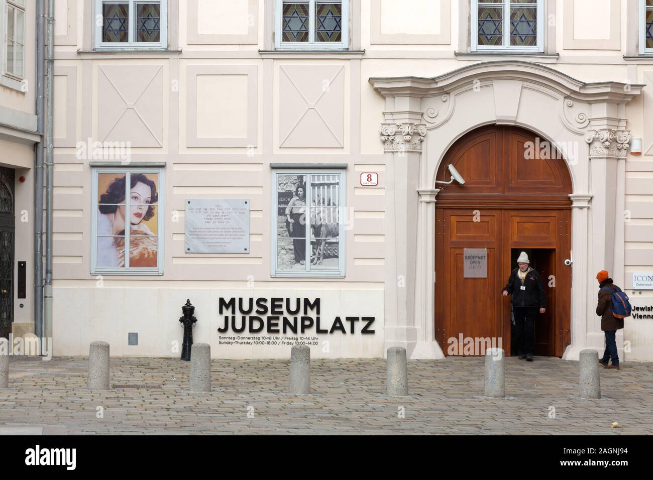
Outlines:
{"type": "Polygon", "coordinates": [[[54,67],[54,146],[74,147],[77,144],[77,67],[54,67]]]}

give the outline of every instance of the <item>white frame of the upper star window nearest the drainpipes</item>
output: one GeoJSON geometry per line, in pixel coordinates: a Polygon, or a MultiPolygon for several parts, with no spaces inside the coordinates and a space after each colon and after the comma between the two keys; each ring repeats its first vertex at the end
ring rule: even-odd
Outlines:
{"type": "Polygon", "coordinates": [[[136,42],[136,3],[146,0],[95,0],[95,50],[167,50],[168,48],[168,0],[154,0],[161,3],[161,42],[136,42]],[[129,3],[129,33],[127,42],[103,42],[104,3],[129,3]]]}

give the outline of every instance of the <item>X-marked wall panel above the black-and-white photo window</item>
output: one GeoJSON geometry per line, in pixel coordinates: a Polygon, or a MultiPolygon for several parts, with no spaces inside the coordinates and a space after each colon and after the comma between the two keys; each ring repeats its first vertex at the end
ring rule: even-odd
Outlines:
{"type": "Polygon", "coordinates": [[[345,66],[279,66],[279,147],[345,148],[345,66]]]}

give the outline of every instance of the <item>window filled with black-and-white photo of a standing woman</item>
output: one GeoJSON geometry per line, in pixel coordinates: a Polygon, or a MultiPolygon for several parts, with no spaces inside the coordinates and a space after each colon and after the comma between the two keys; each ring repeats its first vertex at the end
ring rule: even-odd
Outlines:
{"type": "Polygon", "coordinates": [[[272,276],[345,276],[345,172],[273,175],[272,276]]]}

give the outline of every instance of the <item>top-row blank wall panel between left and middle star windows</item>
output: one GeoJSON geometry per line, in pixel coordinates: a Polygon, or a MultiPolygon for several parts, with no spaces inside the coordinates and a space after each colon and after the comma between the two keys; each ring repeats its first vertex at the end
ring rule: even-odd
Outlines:
{"type": "Polygon", "coordinates": [[[257,44],[259,0],[188,0],[186,42],[257,44]]]}

